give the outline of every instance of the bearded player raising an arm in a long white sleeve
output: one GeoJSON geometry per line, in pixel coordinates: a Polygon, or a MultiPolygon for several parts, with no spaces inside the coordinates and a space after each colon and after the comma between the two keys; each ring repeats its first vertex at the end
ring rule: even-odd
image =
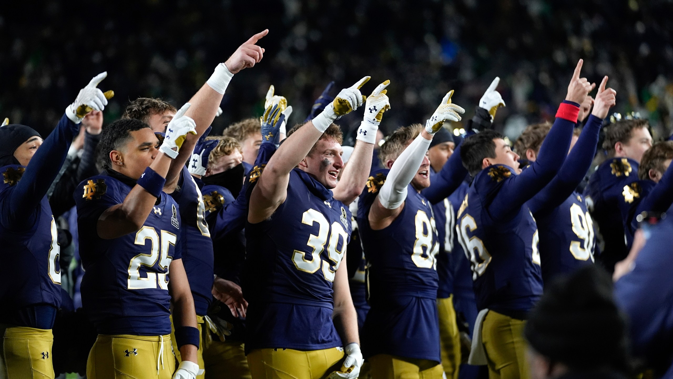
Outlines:
{"type": "Polygon", "coordinates": [[[386,140],[380,158],[388,169],[371,173],[359,200],[371,305],[363,346],[374,379],[441,378],[444,372],[437,322],[439,240],[421,190],[430,185],[427,149],[433,136],[464,113],[452,104],[452,94],[444,96],[425,129],[400,127],[386,140]]]}

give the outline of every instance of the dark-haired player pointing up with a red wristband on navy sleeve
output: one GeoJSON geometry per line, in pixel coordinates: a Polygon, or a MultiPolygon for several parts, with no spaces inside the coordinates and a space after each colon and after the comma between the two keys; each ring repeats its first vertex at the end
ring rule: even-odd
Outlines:
{"type": "Polygon", "coordinates": [[[522,331],[542,294],[538,231],[525,203],[561,168],[579,103],[591,84],[575,67],[565,100],[540,148],[523,172],[503,136],[484,130],[461,145],[463,165],[474,176],[456,218],[456,233],[472,262],[480,314],[472,337],[471,364],[487,364],[493,378],[528,378],[522,331]]]}

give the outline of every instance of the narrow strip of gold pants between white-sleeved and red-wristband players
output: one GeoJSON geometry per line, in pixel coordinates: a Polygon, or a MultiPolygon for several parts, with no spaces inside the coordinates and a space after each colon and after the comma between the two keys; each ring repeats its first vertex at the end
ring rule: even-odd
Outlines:
{"type": "Polygon", "coordinates": [[[437,299],[439,314],[439,345],[441,347],[441,366],[447,379],[458,379],[460,367],[460,332],[456,322],[454,295],[437,299]]]}

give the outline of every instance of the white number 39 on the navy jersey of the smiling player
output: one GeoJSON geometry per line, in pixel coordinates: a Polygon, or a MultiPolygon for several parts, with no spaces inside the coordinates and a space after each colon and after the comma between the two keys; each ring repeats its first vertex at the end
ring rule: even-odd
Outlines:
{"type": "Polygon", "coordinates": [[[332,233],[330,234],[330,223],[327,221],[327,218],[325,218],[324,214],[311,208],[302,214],[302,224],[314,225],[314,223],[318,223],[318,235],[309,235],[306,242],[306,245],[313,248],[311,260],[306,259],[305,252],[295,250],[292,254],[292,262],[297,270],[302,270],[309,274],[318,271],[322,266],[322,274],[325,279],[333,282],[336,269],[339,268],[341,258],[343,258],[343,254],[346,252],[348,233],[346,233],[340,223],[335,221],[331,225],[332,233]],[[334,270],[330,267],[330,262],[320,259],[320,254],[325,249],[328,235],[330,235],[330,241],[327,245],[327,258],[334,264],[334,270]],[[338,250],[337,247],[340,240],[343,242],[341,250],[338,250]]]}

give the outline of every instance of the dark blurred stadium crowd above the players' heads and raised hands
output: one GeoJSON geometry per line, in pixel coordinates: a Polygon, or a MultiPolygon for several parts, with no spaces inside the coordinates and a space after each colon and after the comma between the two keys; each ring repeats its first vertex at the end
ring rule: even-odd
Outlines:
{"type": "MultiPolygon", "coordinates": [[[[106,123],[139,96],[179,107],[227,54],[269,28],[258,44],[264,60],[232,81],[215,134],[261,115],[270,84],[293,106],[293,124],[331,80],[343,88],[365,75],[390,79],[392,109],[381,125],[390,132],[425,120],[450,89],[466,121],[499,76],[507,107],[495,129],[513,140],[528,123],[553,119],[583,58],[590,80],[610,77],[614,111],[637,112],[655,139],[668,138],[672,14],[671,0],[14,2],[0,9],[0,116],[46,135],[101,71],[102,90],[116,94],[106,123]]],[[[339,122],[345,132],[357,129],[355,113],[339,122]]]]}

